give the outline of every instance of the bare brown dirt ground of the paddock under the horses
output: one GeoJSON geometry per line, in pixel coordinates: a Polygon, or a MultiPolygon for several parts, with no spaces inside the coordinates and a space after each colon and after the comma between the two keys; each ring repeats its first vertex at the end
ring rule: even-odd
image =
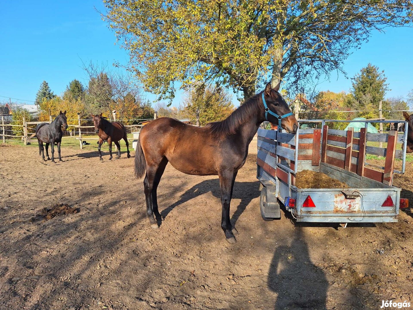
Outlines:
{"type": "MultiPolygon", "coordinates": [[[[100,162],[92,147],[62,148],[62,156],[63,164],[44,165],[35,147],[0,146],[0,310],[413,303],[410,210],[400,212],[398,223],[346,229],[294,223],[284,213],[264,222],[251,155],[235,182],[231,220],[240,234],[232,245],[220,227],[216,176],[185,175],[168,165],[158,188],[166,219],[153,230],[133,157],[123,153],[110,162],[106,153],[100,162]]],[[[412,199],[407,165],[396,184],[412,199]]]]}

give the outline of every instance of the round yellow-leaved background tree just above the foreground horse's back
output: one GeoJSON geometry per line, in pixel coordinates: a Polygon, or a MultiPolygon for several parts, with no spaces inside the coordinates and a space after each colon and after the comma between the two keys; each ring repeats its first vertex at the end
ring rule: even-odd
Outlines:
{"type": "Polygon", "coordinates": [[[220,121],[234,110],[231,97],[222,88],[195,88],[184,100],[185,111],[196,126],[220,121]]]}

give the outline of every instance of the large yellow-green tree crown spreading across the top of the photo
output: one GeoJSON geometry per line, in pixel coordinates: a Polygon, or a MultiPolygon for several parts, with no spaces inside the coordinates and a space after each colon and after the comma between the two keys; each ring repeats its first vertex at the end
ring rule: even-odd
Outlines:
{"type": "Polygon", "coordinates": [[[411,23],[410,0],[105,0],[103,15],[145,90],[173,98],[176,83],[242,90],[343,71],[374,29],[411,23]]]}

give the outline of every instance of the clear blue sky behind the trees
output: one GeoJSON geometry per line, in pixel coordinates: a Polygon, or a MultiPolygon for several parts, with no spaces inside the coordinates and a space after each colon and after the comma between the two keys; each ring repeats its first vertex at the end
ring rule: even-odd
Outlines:
{"type": "MultiPolygon", "coordinates": [[[[115,36],[101,20],[97,0],[2,1],[0,3],[0,102],[8,97],[35,100],[45,80],[60,94],[73,79],[87,82],[81,60],[126,64],[126,51],[115,45],[115,36]]],[[[406,97],[413,88],[413,29],[388,28],[373,33],[344,64],[349,77],[371,62],[385,70],[391,91],[387,96],[406,97]]],[[[320,91],[349,91],[351,80],[332,73],[318,84],[320,91]]],[[[149,100],[156,97],[145,94],[149,100]]],[[[173,105],[178,105],[178,95],[173,105]]],[[[12,100],[13,101],[13,100],[12,100]]],[[[234,96],[234,102],[237,103],[234,96]]],[[[27,103],[31,103],[27,101],[27,103]]]]}

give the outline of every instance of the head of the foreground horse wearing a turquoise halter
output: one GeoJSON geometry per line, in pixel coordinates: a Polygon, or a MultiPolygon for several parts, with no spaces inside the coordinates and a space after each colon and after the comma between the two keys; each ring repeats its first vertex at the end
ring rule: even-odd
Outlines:
{"type": "Polygon", "coordinates": [[[278,92],[279,90],[280,83],[275,88],[271,88],[271,83],[268,83],[261,93],[264,117],[268,122],[278,124],[287,132],[295,134],[298,128],[297,119],[295,119],[284,98],[278,92]]]}

